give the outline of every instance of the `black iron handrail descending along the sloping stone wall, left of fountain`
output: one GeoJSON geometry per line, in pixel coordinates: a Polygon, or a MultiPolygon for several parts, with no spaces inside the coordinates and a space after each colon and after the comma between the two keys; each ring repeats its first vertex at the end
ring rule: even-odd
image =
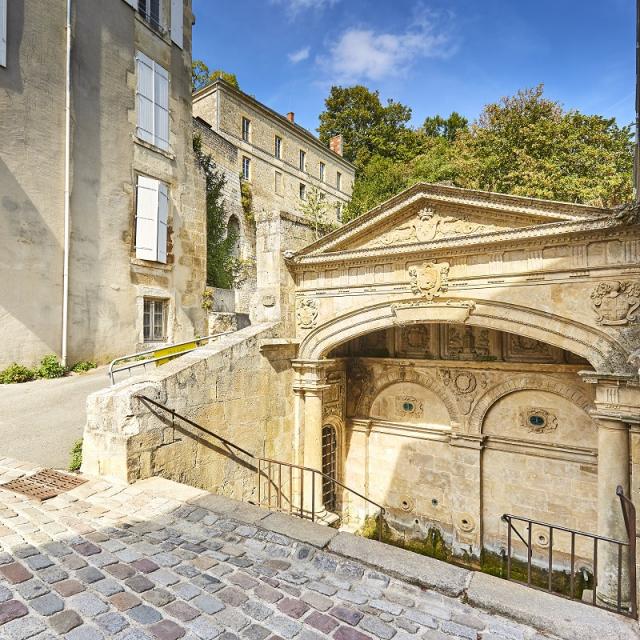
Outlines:
{"type": "MultiPolygon", "coordinates": [[[[339,480],[336,480],[335,478],[332,478],[331,476],[327,475],[326,473],[323,473],[322,471],[319,471],[318,469],[314,469],[312,467],[305,467],[302,465],[297,465],[297,464],[293,464],[291,462],[283,462],[281,460],[274,460],[272,458],[262,458],[259,456],[254,455],[253,453],[251,453],[250,451],[247,451],[246,449],[243,449],[242,447],[238,446],[237,444],[231,442],[230,440],[227,440],[226,438],[223,438],[222,436],[218,435],[217,433],[207,429],[206,427],[203,427],[202,425],[198,424],[197,422],[195,422],[194,420],[191,420],[190,418],[187,418],[186,416],[181,415],[180,413],[178,413],[175,409],[171,409],[170,407],[167,407],[166,405],[158,402],[157,400],[153,400],[152,398],[149,398],[148,396],[145,395],[137,395],[135,396],[136,398],[144,401],[144,402],[148,402],[149,404],[158,407],[159,409],[162,409],[163,411],[166,411],[167,413],[169,413],[171,415],[171,421],[175,422],[175,419],[178,418],[179,420],[182,420],[183,422],[185,422],[186,424],[195,427],[196,429],[199,429],[200,431],[206,433],[207,435],[215,438],[216,440],[222,442],[224,445],[226,445],[227,447],[229,447],[230,449],[233,449],[234,451],[241,453],[242,455],[250,458],[251,460],[255,461],[257,463],[257,476],[258,476],[258,481],[257,481],[257,495],[258,495],[258,505],[259,506],[267,506],[269,509],[277,509],[278,511],[286,511],[287,507],[285,506],[285,508],[283,508],[283,501],[285,502],[285,505],[288,504],[288,513],[290,513],[291,515],[295,515],[295,516],[299,516],[301,518],[304,518],[306,514],[309,514],[309,518],[311,519],[312,522],[315,522],[317,517],[318,517],[318,513],[316,512],[316,476],[320,476],[321,478],[324,478],[332,483],[334,483],[335,485],[338,485],[339,487],[341,487],[342,489],[344,489],[345,491],[352,493],[353,495],[357,496],[358,498],[361,498],[362,500],[364,500],[366,503],[373,505],[376,509],[378,509],[378,526],[377,526],[377,535],[378,535],[378,540],[382,539],[382,526],[383,526],[383,517],[385,514],[385,509],[382,505],[378,504],[377,502],[374,502],[373,500],[371,500],[371,498],[368,498],[367,496],[363,495],[362,493],[356,491],[355,489],[351,489],[350,487],[346,486],[345,484],[343,484],[342,482],[340,482],[339,480]],[[272,477],[272,469],[273,469],[273,465],[276,465],[276,469],[277,469],[277,476],[278,476],[278,482],[276,483],[272,477]],[[283,483],[282,483],[282,470],[284,469],[288,469],[288,473],[289,473],[289,493],[287,494],[286,492],[283,492],[283,483]],[[298,478],[298,496],[300,498],[300,506],[299,507],[294,507],[294,492],[293,492],[293,471],[299,471],[300,475],[298,478]],[[304,478],[305,478],[305,473],[310,473],[311,474],[311,500],[310,500],[310,506],[311,509],[305,511],[304,508],[304,478]],[[263,479],[266,479],[267,481],[267,496],[264,496],[262,493],[262,481],[263,479]],[[272,500],[272,488],[275,485],[276,487],[276,503],[275,505],[273,504],[273,500],[272,500]],[[266,498],[266,501],[265,501],[266,498]]],[[[286,480],[286,473],[285,473],[285,480],[286,480]]]]}

